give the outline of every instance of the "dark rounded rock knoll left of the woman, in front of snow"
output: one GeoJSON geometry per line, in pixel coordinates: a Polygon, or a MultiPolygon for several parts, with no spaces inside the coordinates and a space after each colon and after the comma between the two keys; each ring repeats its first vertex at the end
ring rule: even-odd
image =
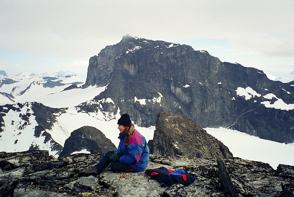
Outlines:
{"type": "Polygon", "coordinates": [[[71,132],[71,136],[65,140],[59,158],[84,149],[89,152],[90,150],[107,152],[116,150],[116,146],[100,130],[91,126],[83,126],[71,132]]]}

